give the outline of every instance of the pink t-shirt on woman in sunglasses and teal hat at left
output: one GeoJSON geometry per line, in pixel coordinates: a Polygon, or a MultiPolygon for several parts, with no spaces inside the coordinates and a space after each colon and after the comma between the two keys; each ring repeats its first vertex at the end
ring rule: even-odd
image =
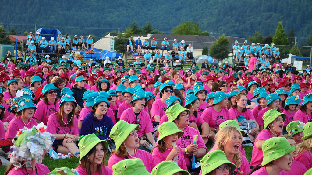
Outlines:
{"type": "Polygon", "coordinates": [[[59,111],[59,101],[60,100],[57,100],[56,105],[50,102],[48,102],[49,105],[46,105],[44,100],[41,100],[37,104],[37,109],[33,117],[39,121],[42,121],[43,124],[46,125],[48,122],[48,117],[59,111]]]}

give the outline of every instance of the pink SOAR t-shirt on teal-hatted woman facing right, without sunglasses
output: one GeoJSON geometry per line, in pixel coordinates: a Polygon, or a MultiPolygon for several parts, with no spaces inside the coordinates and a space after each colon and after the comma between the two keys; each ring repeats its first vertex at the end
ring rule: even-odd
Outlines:
{"type": "Polygon", "coordinates": [[[209,127],[219,128],[219,125],[226,120],[230,120],[230,112],[223,107],[220,112],[217,112],[213,106],[208,107],[202,112],[202,119],[209,124],[209,127]]]}

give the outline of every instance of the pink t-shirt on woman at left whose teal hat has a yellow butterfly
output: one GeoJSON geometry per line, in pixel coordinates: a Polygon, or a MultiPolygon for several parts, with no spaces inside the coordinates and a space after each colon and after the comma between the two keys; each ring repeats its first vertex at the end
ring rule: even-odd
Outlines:
{"type": "MultiPolygon", "coordinates": [[[[35,119],[31,118],[30,120],[31,121],[28,125],[24,124],[24,122],[22,121],[22,117],[20,117],[20,116],[11,120],[11,122],[7,126],[7,134],[5,135],[6,139],[7,138],[11,138],[11,139],[14,138],[17,134],[17,131],[19,129],[23,129],[25,126],[27,128],[31,128],[33,125],[37,125],[37,122],[35,121],[35,119]]],[[[29,120],[28,120],[28,122],[29,122],[29,120]]],[[[9,140],[9,141],[12,141],[12,140],[9,140]]]]}

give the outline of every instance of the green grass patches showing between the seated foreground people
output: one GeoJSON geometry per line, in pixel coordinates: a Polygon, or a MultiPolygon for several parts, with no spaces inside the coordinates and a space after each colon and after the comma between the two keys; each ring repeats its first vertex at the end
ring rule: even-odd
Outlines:
{"type": "MultiPolygon", "coordinates": [[[[211,149],[212,146],[208,148],[211,149]]],[[[252,155],[252,147],[244,147],[246,158],[248,159],[248,162],[250,162],[251,155],[252,155]]],[[[109,157],[105,158],[105,165],[107,165],[109,157]]],[[[46,156],[43,159],[43,164],[45,164],[50,171],[52,171],[54,168],[60,168],[60,167],[68,167],[68,168],[77,168],[79,163],[79,158],[66,158],[66,159],[52,159],[46,156]]],[[[0,174],[4,174],[6,167],[0,167],[0,174]]]]}

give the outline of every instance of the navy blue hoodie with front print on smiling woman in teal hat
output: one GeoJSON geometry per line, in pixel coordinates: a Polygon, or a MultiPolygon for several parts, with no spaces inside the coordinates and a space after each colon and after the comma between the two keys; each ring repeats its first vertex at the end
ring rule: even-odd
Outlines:
{"type": "Polygon", "coordinates": [[[104,115],[102,120],[93,116],[90,111],[83,119],[80,129],[80,135],[88,135],[94,133],[100,140],[109,138],[110,130],[113,128],[114,123],[109,116],[104,115]]]}

